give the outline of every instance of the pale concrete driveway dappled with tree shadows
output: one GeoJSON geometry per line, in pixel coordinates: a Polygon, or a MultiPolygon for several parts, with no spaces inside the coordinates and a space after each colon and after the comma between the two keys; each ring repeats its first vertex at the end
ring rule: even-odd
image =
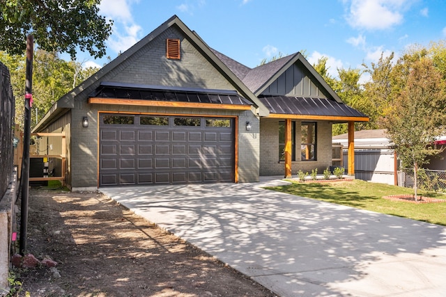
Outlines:
{"type": "Polygon", "coordinates": [[[284,183],[100,191],[279,296],[446,296],[445,227],[261,188],[284,183]]]}

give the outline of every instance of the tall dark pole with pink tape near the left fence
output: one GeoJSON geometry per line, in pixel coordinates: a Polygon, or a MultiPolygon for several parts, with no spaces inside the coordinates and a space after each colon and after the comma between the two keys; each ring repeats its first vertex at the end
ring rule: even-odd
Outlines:
{"type": "Polygon", "coordinates": [[[29,198],[29,143],[31,141],[31,106],[33,105],[33,35],[26,38],[26,82],[25,82],[25,118],[23,134],[22,201],[20,209],[20,254],[26,251],[26,229],[28,227],[28,198],[29,198]]]}

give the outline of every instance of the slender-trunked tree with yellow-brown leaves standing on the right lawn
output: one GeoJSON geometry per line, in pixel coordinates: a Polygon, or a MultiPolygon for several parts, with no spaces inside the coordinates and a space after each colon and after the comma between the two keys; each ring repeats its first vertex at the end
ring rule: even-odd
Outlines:
{"type": "Polygon", "coordinates": [[[444,133],[446,124],[446,92],[442,74],[430,58],[415,61],[406,86],[394,99],[383,121],[403,166],[413,167],[415,200],[417,170],[426,156],[438,154],[433,141],[444,133]]]}

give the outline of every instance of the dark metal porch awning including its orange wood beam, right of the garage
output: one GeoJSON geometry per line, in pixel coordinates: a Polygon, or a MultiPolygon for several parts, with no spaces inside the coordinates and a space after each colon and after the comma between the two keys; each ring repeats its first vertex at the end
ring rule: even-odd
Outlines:
{"type": "Polygon", "coordinates": [[[269,109],[271,118],[305,118],[339,122],[369,120],[364,113],[333,99],[289,96],[263,96],[259,99],[269,109]]]}

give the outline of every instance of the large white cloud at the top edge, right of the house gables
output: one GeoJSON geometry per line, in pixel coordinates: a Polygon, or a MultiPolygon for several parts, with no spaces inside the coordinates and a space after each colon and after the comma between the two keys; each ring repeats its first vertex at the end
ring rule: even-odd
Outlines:
{"type": "MultiPolygon", "coordinates": [[[[383,30],[403,22],[411,0],[351,0],[348,23],[353,28],[383,30]]],[[[348,3],[344,1],[344,3],[348,3]]]]}

